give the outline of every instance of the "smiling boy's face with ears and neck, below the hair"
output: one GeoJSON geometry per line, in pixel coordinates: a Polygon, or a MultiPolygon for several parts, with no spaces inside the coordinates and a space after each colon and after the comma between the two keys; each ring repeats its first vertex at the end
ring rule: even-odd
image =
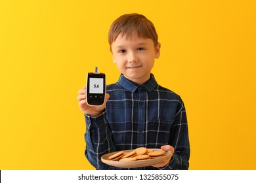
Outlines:
{"type": "Polygon", "coordinates": [[[113,62],[125,78],[143,84],[150,78],[154,59],[160,56],[160,43],[134,34],[127,38],[119,35],[111,45],[113,62]]]}

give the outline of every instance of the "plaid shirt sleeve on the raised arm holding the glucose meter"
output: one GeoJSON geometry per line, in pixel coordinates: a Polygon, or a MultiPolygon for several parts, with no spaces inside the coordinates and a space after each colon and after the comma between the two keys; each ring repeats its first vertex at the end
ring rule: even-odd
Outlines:
{"type": "Polygon", "coordinates": [[[85,114],[85,122],[85,156],[96,169],[108,169],[109,165],[102,163],[101,156],[116,151],[116,148],[106,120],[106,111],[96,117],[85,114]]]}

